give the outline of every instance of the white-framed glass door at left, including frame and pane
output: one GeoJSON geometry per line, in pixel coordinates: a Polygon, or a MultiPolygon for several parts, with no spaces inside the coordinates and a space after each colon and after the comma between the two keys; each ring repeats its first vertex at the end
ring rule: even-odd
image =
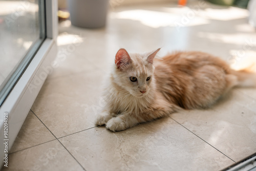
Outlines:
{"type": "Polygon", "coordinates": [[[56,0],[0,0],[2,164],[53,69],[52,62],[57,54],[57,9],[56,0]]]}

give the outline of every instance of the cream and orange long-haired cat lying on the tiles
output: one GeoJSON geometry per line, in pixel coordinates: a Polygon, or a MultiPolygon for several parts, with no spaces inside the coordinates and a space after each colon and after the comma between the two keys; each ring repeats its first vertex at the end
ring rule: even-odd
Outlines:
{"type": "Polygon", "coordinates": [[[144,54],[118,50],[104,91],[106,105],[96,125],[122,131],[180,109],[207,108],[235,86],[256,85],[253,73],[232,70],[210,54],[176,52],[155,58],[159,50],[144,54]]]}

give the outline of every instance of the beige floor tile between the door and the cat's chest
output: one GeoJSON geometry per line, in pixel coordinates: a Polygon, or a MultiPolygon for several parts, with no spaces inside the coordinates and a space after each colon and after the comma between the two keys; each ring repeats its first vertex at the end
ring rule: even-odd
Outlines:
{"type": "Polygon", "coordinates": [[[46,81],[31,109],[57,138],[93,127],[103,78],[96,70],[46,81]]]}

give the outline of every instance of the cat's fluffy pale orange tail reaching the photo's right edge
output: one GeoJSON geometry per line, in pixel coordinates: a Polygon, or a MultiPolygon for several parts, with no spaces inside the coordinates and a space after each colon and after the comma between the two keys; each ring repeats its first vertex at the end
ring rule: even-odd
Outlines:
{"type": "Polygon", "coordinates": [[[237,87],[256,87],[256,73],[250,69],[232,70],[232,75],[237,76],[237,87]]]}

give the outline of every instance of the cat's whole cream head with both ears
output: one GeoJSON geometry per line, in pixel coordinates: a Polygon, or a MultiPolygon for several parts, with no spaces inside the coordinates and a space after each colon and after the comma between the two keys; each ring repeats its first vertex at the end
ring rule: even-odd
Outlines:
{"type": "Polygon", "coordinates": [[[129,55],[125,49],[120,49],[115,57],[115,83],[137,98],[146,96],[154,75],[153,60],[159,50],[129,55]]]}

